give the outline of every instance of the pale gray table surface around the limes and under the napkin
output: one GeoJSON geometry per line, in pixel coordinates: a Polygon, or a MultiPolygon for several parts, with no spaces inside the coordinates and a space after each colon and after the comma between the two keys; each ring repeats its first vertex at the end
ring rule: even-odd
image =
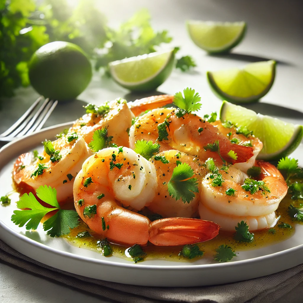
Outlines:
{"type": "MultiPolygon", "coordinates": [[[[138,9],[148,8],[154,28],[168,29],[173,37],[171,46],[181,46],[178,56],[191,55],[195,59],[196,68],[187,73],[173,71],[154,94],[174,94],[186,87],[194,88],[201,95],[205,113],[209,113],[214,108],[218,109],[221,101],[211,92],[206,71],[274,59],[277,61],[277,74],[273,87],[260,102],[247,107],[261,114],[303,124],[303,18],[302,4],[299,1],[258,0],[248,3],[240,0],[97,0],[97,5],[113,27],[117,27],[138,9]],[[243,42],[230,54],[210,56],[188,37],[185,29],[185,21],[188,19],[244,20],[248,23],[248,31],[243,42]]],[[[99,105],[118,97],[133,101],[144,96],[146,95],[129,93],[111,79],[95,73],[92,82],[79,95],[78,100],[58,104],[45,126],[75,120],[83,114],[84,102],[99,105]]],[[[38,94],[30,87],[18,88],[15,97],[0,102],[0,133],[12,125],[37,97],[38,94]]],[[[297,302],[302,295],[303,285],[299,285],[277,302],[297,302]]],[[[22,302],[110,302],[0,264],[0,301],[17,302],[20,298],[23,298],[22,302]]]]}

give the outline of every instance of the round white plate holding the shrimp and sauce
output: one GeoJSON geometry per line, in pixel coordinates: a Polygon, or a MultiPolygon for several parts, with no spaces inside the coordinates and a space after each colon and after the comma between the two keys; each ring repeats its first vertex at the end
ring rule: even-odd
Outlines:
{"type": "MultiPolygon", "coordinates": [[[[12,189],[11,171],[18,155],[32,149],[42,150],[41,142],[71,124],[45,128],[35,134],[11,142],[0,150],[0,196],[12,189]]],[[[302,155],[302,145],[293,156],[302,155]]],[[[301,163],[302,164],[302,163],[301,163]]],[[[12,201],[18,195],[13,194],[12,201]],[[14,196],[15,195],[15,196],[14,196]]],[[[63,238],[51,238],[40,225],[26,231],[11,221],[15,203],[0,206],[0,238],[20,253],[46,265],[74,274],[106,281],[146,286],[199,286],[242,281],[269,275],[301,264],[303,225],[286,241],[251,251],[241,251],[227,263],[213,263],[199,258],[193,263],[151,260],[133,264],[117,257],[105,258],[95,251],[70,245],[63,238]]]]}

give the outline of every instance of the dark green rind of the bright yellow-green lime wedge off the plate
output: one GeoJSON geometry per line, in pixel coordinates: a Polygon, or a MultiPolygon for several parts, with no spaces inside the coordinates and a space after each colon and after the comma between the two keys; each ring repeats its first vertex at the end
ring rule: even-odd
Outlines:
{"type": "MultiPolygon", "coordinates": [[[[256,63],[260,63],[260,62],[256,62],[256,63]]],[[[252,63],[252,64],[255,64],[255,63],[252,63]]],[[[252,65],[251,64],[251,65],[252,65]]],[[[215,82],[215,79],[213,77],[213,74],[212,72],[206,72],[206,77],[207,77],[207,80],[208,80],[208,83],[209,83],[209,86],[211,87],[211,90],[214,92],[214,94],[220,98],[221,100],[226,100],[228,102],[231,102],[231,103],[234,103],[234,104],[245,104],[245,103],[254,103],[254,102],[258,102],[258,100],[262,97],[264,97],[268,92],[269,90],[271,89],[274,81],[275,81],[275,75],[276,75],[276,62],[274,60],[270,60],[268,61],[268,64],[271,65],[271,80],[270,82],[266,85],[265,89],[257,94],[257,95],[254,95],[253,94],[253,90],[254,88],[251,87],[251,83],[249,81],[246,81],[243,83],[243,85],[246,85],[248,86],[248,89],[251,90],[252,92],[252,95],[249,96],[249,97],[237,97],[237,96],[233,96],[233,95],[229,95],[225,92],[223,92],[221,90],[221,88],[219,88],[219,85],[215,82]]],[[[226,71],[227,72],[227,71],[226,71]]],[[[231,72],[235,72],[234,69],[231,69],[231,72]]],[[[248,73],[247,73],[248,74],[248,73]]],[[[253,75],[251,75],[253,76],[253,75]]],[[[261,82],[261,80],[257,79],[255,80],[255,83],[258,82],[261,82]]],[[[260,83],[259,83],[260,84],[260,83]]],[[[243,85],[238,85],[241,88],[243,88],[243,85]]]]}

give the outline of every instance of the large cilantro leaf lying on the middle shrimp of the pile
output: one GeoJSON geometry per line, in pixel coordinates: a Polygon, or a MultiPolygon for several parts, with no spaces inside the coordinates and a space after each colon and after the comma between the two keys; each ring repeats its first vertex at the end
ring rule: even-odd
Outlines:
{"type": "Polygon", "coordinates": [[[167,183],[169,195],[176,200],[181,198],[183,203],[189,203],[195,197],[194,192],[199,192],[194,175],[193,169],[187,163],[176,166],[167,183]]]}

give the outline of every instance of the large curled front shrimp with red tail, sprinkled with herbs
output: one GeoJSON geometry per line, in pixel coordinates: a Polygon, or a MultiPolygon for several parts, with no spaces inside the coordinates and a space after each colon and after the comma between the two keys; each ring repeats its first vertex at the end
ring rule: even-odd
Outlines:
{"type": "Polygon", "coordinates": [[[210,240],[219,226],[193,218],[151,222],[137,211],[155,198],[151,161],[127,147],[105,148],[89,157],[74,181],[75,208],[98,234],[127,245],[184,245],[210,240]],[[188,235],[188,236],[187,236],[188,235]]]}

